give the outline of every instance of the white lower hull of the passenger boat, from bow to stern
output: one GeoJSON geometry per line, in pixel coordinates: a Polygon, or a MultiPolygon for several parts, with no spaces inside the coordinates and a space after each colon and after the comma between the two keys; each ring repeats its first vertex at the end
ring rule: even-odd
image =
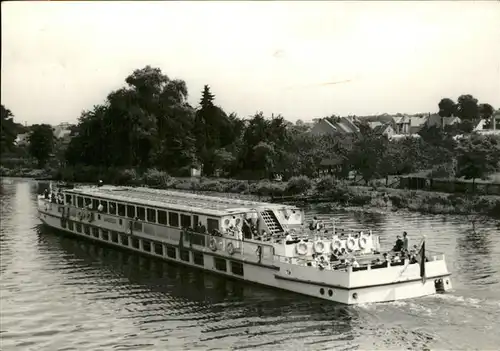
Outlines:
{"type": "MultiPolygon", "coordinates": [[[[51,211],[40,209],[39,218],[48,227],[61,230],[76,237],[83,237],[166,261],[177,262],[213,273],[230,276],[232,278],[342,304],[389,302],[410,299],[436,294],[438,290],[448,291],[452,288],[450,273],[446,268],[444,259],[428,262],[426,264],[428,273],[425,282],[422,281],[418,274],[418,264],[394,266],[371,271],[351,272],[350,274],[331,270],[321,271],[319,269],[314,269],[314,272],[312,272],[313,270],[311,267],[300,267],[288,262],[273,260],[262,260],[262,262],[258,262],[255,257],[252,261],[249,261],[245,258],[228,256],[224,251],[215,253],[207,247],[202,249],[191,249],[185,246],[183,251],[189,251],[189,256],[181,259],[180,247],[178,245],[175,248],[176,258],[167,255],[165,246],[168,245],[172,247],[175,245],[171,242],[167,243],[165,241],[154,240],[139,235],[130,235],[124,232],[118,233],[121,236],[139,239],[140,245],[136,248],[131,246],[130,240],[127,240],[127,245],[123,245],[120,242],[121,240],[114,241],[111,237],[103,238],[101,230],[99,230],[98,237],[94,237],[93,235],[85,234],[83,231],[77,232],[76,230],[63,228],[61,225],[61,215],[58,213],[51,213],[51,211]],[[149,250],[144,250],[142,241],[153,244],[161,243],[161,245],[163,245],[162,254],[157,254],[153,245],[149,247],[149,250]],[[194,253],[197,253],[198,257],[200,255],[203,256],[201,264],[200,261],[198,261],[198,264],[195,263],[194,253]],[[225,271],[220,269],[220,265],[217,266],[216,259],[219,259],[219,262],[221,260],[226,262],[225,271]],[[242,272],[235,273],[235,269],[232,266],[234,262],[242,265],[242,272]],[[307,279],[304,277],[307,277],[307,279]]],[[[84,225],[99,228],[98,223],[84,223],[84,225]]]]}

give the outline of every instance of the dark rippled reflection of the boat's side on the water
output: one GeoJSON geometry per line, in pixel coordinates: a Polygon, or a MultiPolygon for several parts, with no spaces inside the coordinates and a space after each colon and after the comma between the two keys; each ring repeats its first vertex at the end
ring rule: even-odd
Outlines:
{"type": "MultiPolygon", "coordinates": [[[[141,323],[151,323],[151,318],[154,321],[159,318],[172,320],[186,313],[191,319],[210,321],[200,325],[203,333],[208,333],[205,341],[226,338],[228,333],[233,335],[235,329],[238,333],[257,337],[269,333],[270,326],[275,329],[279,324],[291,324],[300,333],[328,330],[330,334],[345,336],[351,333],[352,320],[357,318],[357,311],[351,307],[211,275],[81,239],[56,236],[43,227],[38,230],[40,251],[50,251],[66,261],[65,269],[60,270],[66,275],[62,284],[73,284],[77,272],[85,276],[85,279],[80,277],[79,282],[89,282],[87,287],[80,283],[79,294],[90,294],[93,299],[116,299],[119,303],[126,301],[129,310],[136,310],[137,307],[132,306],[137,304],[155,305],[154,311],[134,317],[140,318],[141,323]],[[110,287],[115,293],[105,294],[110,287]],[[299,322],[301,326],[295,326],[299,322]],[[255,328],[259,330],[252,331],[255,328]]],[[[272,333],[288,333],[289,327],[272,333]]]]}

